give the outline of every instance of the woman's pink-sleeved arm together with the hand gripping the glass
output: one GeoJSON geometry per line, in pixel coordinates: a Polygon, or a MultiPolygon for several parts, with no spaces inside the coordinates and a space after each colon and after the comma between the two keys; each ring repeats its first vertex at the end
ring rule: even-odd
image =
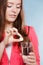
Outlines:
{"type": "Polygon", "coordinates": [[[34,52],[30,52],[28,56],[23,55],[23,60],[26,65],[40,65],[39,49],[38,49],[38,38],[34,31],[34,28],[31,26],[25,26],[26,33],[30,39],[34,52]]]}

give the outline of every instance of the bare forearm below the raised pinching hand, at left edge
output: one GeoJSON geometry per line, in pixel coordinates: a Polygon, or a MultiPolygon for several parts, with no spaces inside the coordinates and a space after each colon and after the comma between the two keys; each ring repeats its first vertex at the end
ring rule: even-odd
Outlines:
{"type": "Polygon", "coordinates": [[[4,39],[0,42],[0,61],[2,59],[4,48],[6,47],[6,45],[8,45],[8,40],[9,40],[10,35],[11,33],[4,34],[4,39]]]}

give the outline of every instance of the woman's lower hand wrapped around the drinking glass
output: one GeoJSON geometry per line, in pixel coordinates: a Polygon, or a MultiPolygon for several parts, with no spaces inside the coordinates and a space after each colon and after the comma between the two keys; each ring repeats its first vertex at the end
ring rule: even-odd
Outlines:
{"type": "Polygon", "coordinates": [[[29,55],[23,55],[22,57],[26,65],[37,65],[34,52],[30,52],[29,55]]]}

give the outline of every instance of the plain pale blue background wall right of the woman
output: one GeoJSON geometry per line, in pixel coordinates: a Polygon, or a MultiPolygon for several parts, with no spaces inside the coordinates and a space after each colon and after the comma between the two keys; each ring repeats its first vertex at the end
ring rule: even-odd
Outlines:
{"type": "Polygon", "coordinates": [[[40,65],[43,65],[43,0],[23,0],[25,23],[32,25],[39,40],[40,65]]]}

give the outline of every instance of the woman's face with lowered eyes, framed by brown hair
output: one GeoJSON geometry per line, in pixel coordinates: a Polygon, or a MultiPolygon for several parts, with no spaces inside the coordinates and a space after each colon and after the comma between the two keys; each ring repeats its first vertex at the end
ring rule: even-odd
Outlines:
{"type": "Polygon", "coordinates": [[[6,21],[14,22],[21,10],[21,0],[7,0],[6,21]]]}

